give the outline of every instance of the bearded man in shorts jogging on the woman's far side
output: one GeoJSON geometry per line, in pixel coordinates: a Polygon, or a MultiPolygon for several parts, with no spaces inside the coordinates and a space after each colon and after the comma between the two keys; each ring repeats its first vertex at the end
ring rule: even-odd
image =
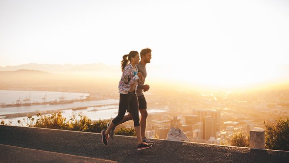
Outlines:
{"type": "MultiPolygon", "coordinates": [[[[140,73],[142,73],[143,77],[144,77],[144,80],[142,81],[139,81],[138,83],[138,87],[137,87],[137,96],[138,96],[138,100],[139,100],[139,110],[141,112],[141,121],[140,121],[140,125],[141,125],[141,134],[142,134],[142,139],[143,139],[143,142],[151,145],[151,144],[154,144],[153,141],[150,141],[148,140],[146,137],[145,137],[145,128],[146,128],[146,118],[147,118],[147,111],[146,111],[146,101],[145,101],[145,96],[143,94],[143,91],[148,91],[149,90],[149,85],[145,84],[145,77],[146,77],[146,68],[145,68],[145,65],[146,63],[150,63],[150,59],[151,59],[151,50],[146,48],[146,49],[143,49],[141,51],[141,61],[139,64],[137,64],[137,68],[138,68],[138,71],[140,73]]],[[[125,115],[123,117],[123,119],[120,121],[119,124],[121,123],[124,123],[128,120],[131,120],[132,119],[132,114],[130,113],[130,110],[127,109],[128,111],[128,114],[125,115]]],[[[118,125],[119,125],[118,124],[118,125]]],[[[109,126],[109,124],[107,125],[109,126]]],[[[111,138],[114,137],[114,130],[112,130],[110,133],[109,133],[109,136],[111,138]]]]}

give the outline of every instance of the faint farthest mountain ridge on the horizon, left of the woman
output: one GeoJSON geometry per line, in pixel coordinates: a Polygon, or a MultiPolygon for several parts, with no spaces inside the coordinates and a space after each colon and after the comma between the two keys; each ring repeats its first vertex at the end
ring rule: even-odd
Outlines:
{"type": "Polygon", "coordinates": [[[29,63],[23,64],[18,66],[6,66],[0,67],[0,71],[16,71],[16,70],[39,70],[44,72],[69,72],[69,71],[114,71],[120,70],[120,67],[117,66],[108,66],[103,63],[93,63],[93,64],[82,64],[82,65],[72,65],[72,64],[36,64],[36,63],[29,63]]]}

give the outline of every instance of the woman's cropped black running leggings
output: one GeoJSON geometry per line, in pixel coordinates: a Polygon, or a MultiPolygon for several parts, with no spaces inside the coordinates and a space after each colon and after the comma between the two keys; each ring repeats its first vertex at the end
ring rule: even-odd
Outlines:
{"type": "Polygon", "coordinates": [[[138,97],[136,94],[122,94],[120,93],[120,105],[119,105],[119,113],[118,116],[115,117],[115,119],[112,120],[112,122],[117,125],[122,118],[124,117],[124,114],[126,112],[126,109],[130,108],[130,111],[132,113],[134,126],[140,126],[140,118],[139,118],[139,102],[138,97]]]}

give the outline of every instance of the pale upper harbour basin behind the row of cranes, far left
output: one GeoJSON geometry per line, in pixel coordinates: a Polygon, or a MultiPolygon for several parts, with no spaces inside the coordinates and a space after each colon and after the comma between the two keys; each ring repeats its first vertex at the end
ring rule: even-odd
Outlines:
{"type": "Polygon", "coordinates": [[[17,100],[23,100],[29,98],[31,103],[42,102],[42,98],[46,97],[46,101],[59,100],[60,97],[64,97],[65,100],[77,100],[83,99],[89,96],[87,93],[75,93],[75,92],[50,92],[50,91],[20,91],[20,90],[0,90],[0,103],[16,104],[17,100]]]}

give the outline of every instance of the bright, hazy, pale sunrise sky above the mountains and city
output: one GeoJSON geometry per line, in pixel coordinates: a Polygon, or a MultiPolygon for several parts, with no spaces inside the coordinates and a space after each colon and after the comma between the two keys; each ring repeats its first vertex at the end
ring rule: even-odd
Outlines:
{"type": "Polygon", "coordinates": [[[0,66],[120,65],[215,85],[288,80],[288,0],[0,0],[0,66]]]}

